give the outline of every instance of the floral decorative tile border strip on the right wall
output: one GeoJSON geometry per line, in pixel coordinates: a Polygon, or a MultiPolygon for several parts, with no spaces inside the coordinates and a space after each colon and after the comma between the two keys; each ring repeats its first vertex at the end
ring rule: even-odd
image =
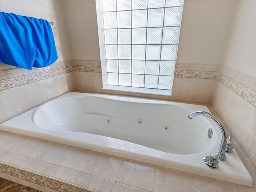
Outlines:
{"type": "Polygon", "coordinates": [[[235,79],[228,77],[221,72],[218,74],[218,81],[228,87],[231,91],[238,94],[240,97],[245,99],[248,103],[256,107],[256,90],[243,85],[242,83],[236,81],[235,79]]]}

